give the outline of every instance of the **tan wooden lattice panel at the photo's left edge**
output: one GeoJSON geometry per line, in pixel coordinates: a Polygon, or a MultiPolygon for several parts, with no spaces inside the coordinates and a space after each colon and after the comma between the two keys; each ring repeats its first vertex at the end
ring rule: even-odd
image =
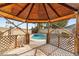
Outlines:
{"type": "Polygon", "coordinates": [[[0,53],[2,54],[5,51],[15,48],[16,39],[17,39],[17,36],[14,36],[14,35],[1,36],[0,37],[0,53]]]}

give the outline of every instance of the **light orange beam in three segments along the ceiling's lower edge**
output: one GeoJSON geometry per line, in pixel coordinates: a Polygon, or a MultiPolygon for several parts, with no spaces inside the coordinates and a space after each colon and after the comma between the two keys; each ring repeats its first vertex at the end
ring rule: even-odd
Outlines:
{"type": "MultiPolygon", "coordinates": [[[[7,14],[5,12],[2,12],[0,11],[0,15],[3,16],[3,17],[6,17],[6,18],[10,18],[10,19],[13,19],[13,20],[18,20],[18,21],[21,21],[21,22],[26,22],[26,19],[23,19],[23,18],[20,18],[20,17],[17,17],[17,16],[14,16],[14,15],[11,15],[11,14],[7,14]]],[[[56,18],[56,19],[52,19],[50,20],[50,22],[56,22],[56,21],[61,21],[61,20],[68,20],[69,18],[75,18],[75,14],[70,14],[70,15],[67,15],[67,16],[62,16],[62,17],[59,17],[59,18],[56,18]]],[[[27,22],[48,22],[49,20],[28,20],[27,19],[27,22]]]]}

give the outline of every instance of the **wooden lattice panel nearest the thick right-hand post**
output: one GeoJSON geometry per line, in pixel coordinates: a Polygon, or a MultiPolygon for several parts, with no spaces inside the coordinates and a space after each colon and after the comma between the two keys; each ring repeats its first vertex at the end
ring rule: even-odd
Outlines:
{"type": "Polygon", "coordinates": [[[74,53],[74,37],[70,36],[69,38],[65,38],[62,35],[60,36],[60,48],[68,50],[74,53]]]}

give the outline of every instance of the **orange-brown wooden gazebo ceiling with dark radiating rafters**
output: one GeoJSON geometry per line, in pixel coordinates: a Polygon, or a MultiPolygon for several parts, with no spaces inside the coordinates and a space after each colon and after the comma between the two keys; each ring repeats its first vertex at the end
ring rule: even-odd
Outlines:
{"type": "Polygon", "coordinates": [[[65,3],[3,3],[0,15],[22,22],[54,22],[74,17],[79,4],[65,3]]]}

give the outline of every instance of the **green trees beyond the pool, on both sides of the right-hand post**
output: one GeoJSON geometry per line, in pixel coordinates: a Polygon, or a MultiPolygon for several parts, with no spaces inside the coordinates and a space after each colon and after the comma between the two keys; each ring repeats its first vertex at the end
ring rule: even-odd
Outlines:
{"type": "MultiPolygon", "coordinates": [[[[50,26],[52,28],[63,28],[67,25],[68,20],[63,20],[63,21],[58,21],[58,22],[53,22],[50,23],[50,26]]],[[[42,29],[43,27],[48,28],[48,23],[35,23],[37,26],[35,28],[32,28],[34,32],[37,32],[39,29],[42,29]]]]}

